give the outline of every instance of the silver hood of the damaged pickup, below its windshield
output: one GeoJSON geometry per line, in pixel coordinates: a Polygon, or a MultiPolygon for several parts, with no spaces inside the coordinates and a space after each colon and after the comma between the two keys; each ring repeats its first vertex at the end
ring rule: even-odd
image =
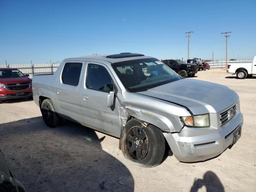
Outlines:
{"type": "Polygon", "coordinates": [[[239,99],[226,86],[188,78],[137,93],[185,106],[194,115],[220,112],[239,99]]]}

